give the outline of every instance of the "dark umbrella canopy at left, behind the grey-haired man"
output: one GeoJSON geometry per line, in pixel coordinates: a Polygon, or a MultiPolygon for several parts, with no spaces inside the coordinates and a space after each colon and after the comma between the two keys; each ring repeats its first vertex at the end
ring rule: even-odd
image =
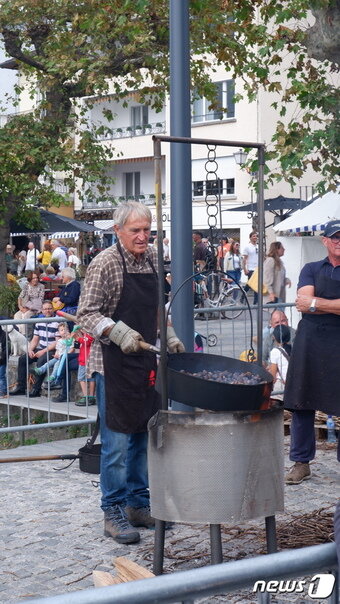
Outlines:
{"type": "Polygon", "coordinates": [[[17,237],[20,235],[36,234],[36,235],[53,235],[56,239],[62,237],[76,237],[78,233],[97,233],[102,231],[93,224],[61,216],[48,210],[39,209],[41,224],[35,229],[20,224],[15,220],[10,221],[11,236],[17,237]]]}

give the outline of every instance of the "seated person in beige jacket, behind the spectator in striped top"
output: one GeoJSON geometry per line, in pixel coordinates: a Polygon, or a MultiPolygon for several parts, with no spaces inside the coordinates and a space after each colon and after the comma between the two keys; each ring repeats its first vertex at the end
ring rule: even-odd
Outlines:
{"type": "MultiPolygon", "coordinates": [[[[19,310],[15,313],[14,319],[29,319],[41,311],[45,296],[45,288],[39,283],[40,271],[29,271],[27,282],[24,284],[19,298],[19,310]]],[[[18,325],[20,333],[25,335],[26,327],[24,324],[18,325]]]]}

